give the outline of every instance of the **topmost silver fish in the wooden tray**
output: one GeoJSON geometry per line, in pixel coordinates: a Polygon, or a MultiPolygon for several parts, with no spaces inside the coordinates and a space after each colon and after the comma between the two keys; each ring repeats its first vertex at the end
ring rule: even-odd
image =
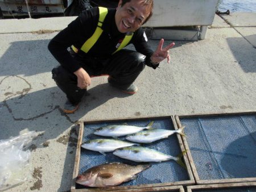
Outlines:
{"type": "Polygon", "coordinates": [[[139,132],[145,129],[151,128],[154,122],[150,122],[147,127],[137,127],[137,126],[129,126],[126,124],[120,125],[110,125],[98,128],[93,134],[100,136],[109,136],[109,137],[120,137],[125,135],[130,135],[135,132],[139,132]]]}

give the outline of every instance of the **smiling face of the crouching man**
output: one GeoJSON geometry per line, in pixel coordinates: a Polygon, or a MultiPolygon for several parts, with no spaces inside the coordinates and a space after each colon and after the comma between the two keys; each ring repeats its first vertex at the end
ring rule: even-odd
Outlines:
{"type": "Polygon", "coordinates": [[[121,33],[134,32],[144,23],[150,15],[150,6],[144,5],[144,0],[131,0],[122,5],[119,1],[115,13],[115,24],[121,33]]]}

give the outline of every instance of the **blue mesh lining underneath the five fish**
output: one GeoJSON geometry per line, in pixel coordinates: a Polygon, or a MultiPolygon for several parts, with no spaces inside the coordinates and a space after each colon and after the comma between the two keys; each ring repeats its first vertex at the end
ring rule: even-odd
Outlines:
{"type": "MultiPolygon", "coordinates": [[[[153,128],[161,128],[174,130],[172,125],[172,120],[168,119],[152,119],[154,120],[153,128]]],[[[123,124],[127,123],[131,126],[146,126],[150,123],[151,120],[133,120],[133,121],[119,121],[119,122],[108,122],[108,123],[93,123],[84,125],[84,136],[82,142],[97,139],[97,138],[107,138],[110,137],[101,137],[93,135],[93,132],[102,126],[108,126],[110,124],[123,124]]],[[[125,140],[124,137],[119,137],[121,140],[125,140]]],[[[167,139],[155,141],[152,144],[142,144],[143,147],[149,147],[160,152],[166,153],[168,155],[177,156],[181,153],[179,148],[179,142],[176,135],[171,135],[167,139]]],[[[89,151],[81,148],[80,155],[80,165],[79,173],[85,172],[85,170],[92,168],[96,165],[101,165],[106,162],[123,162],[129,165],[138,165],[138,162],[126,160],[120,157],[113,155],[112,152],[106,153],[106,156],[102,155],[99,152],[89,151]]],[[[185,181],[189,180],[187,170],[178,165],[175,161],[165,161],[165,162],[153,162],[151,163],[151,168],[144,170],[141,173],[137,174],[137,178],[133,181],[128,181],[122,183],[119,186],[129,186],[129,185],[142,185],[142,184],[153,184],[153,183],[163,183],[163,182],[176,182],[176,181],[185,181]]],[[[81,187],[81,186],[80,186],[81,187]]],[[[79,186],[77,185],[77,189],[79,186]]]]}

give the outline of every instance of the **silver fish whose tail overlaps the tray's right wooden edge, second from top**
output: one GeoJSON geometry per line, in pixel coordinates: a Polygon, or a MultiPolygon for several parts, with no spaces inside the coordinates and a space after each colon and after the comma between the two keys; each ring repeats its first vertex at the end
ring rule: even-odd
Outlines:
{"type": "Polygon", "coordinates": [[[132,135],[126,136],[126,139],[129,141],[137,142],[137,143],[152,143],[156,140],[167,138],[168,136],[179,133],[180,135],[184,135],[182,132],[184,127],[179,128],[179,130],[160,130],[160,129],[151,129],[146,131],[140,131],[134,133],[132,135]]]}

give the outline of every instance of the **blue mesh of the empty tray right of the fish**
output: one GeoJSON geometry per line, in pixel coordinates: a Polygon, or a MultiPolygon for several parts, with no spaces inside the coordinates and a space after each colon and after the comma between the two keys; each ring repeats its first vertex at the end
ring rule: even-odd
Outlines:
{"type": "Polygon", "coordinates": [[[256,177],[256,115],[180,122],[200,180],[256,177]]]}

